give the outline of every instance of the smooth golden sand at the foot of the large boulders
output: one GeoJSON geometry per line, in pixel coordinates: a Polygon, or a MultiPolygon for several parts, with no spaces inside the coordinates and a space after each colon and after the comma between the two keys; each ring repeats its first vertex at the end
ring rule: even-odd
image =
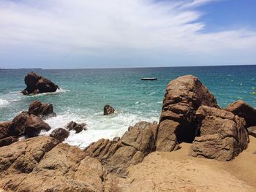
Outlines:
{"type": "Polygon", "coordinates": [[[117,180],[117,191],[256,191],[256,139],[233,161],[193,158],[191,144],[171,153],[154,152],[117,180]]]}

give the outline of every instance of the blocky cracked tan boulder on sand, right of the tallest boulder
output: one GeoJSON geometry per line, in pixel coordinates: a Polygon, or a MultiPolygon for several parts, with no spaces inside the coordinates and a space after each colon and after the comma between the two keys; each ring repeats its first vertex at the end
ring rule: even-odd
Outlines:
{"type": "Polygon", "coordinates": [[[199,107],[196,115],[200,137],[195,137],[189,155],[230,161],[246,149],[249,137],[244,118],[207,106],[199,107]]]}

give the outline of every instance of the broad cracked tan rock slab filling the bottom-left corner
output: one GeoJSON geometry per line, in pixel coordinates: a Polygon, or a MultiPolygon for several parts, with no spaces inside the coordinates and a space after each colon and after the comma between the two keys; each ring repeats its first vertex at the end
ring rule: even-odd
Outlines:
{"type": "Polygon", "coordinates": [[[34,137],[0,148],[0,188],[6,191],[103,191],[105,169],[78,147],[34,137]]]}

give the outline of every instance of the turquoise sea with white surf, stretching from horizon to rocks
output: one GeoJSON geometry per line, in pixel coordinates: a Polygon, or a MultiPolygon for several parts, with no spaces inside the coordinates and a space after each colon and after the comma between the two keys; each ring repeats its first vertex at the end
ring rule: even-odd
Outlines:
{"type": "MultiPolygon", "coordinates": [[[[242,99],[256,107],[256,66],[189,66],[129,69],[0,69],[0,121],[12,120],[32,101],[53,104],[57,116],[46,122],[64,128],[71,120],[88,129],[70,133],[65,142],[80,148],[98,139],[120,137],[141,120],[159,120],[165,87],[170,80],[192,74],[214,94],[220,107],[242,99]],[[60,89],[56,93],[23,96],[28,72],[46,77],[60,89]],[[141,77],[157,77],[142,81],[141,77]],[[103,107],[116,110],[104,116],[103,107]]],[[[48,135],[51,131],[42,132],[48,135]]]]}

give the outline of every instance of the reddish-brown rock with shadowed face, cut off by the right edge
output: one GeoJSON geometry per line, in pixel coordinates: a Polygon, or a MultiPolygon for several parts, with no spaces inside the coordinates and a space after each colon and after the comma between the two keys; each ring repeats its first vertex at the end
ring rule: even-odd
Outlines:
{"type": "Polygon", "coordinates": [[[247,126],[256,126],[256,110],[249,106],[249,104],[246,104],[246,102],[238,100],[227,106],[226,110],[244,118],[247,126]]]}

